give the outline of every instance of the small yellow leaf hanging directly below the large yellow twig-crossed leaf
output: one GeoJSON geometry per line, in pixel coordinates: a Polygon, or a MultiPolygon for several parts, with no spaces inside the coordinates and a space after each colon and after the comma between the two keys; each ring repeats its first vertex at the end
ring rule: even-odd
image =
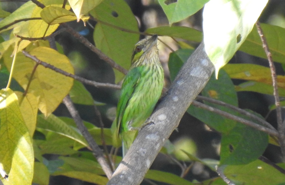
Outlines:
{"type": "Polygon", "coordinates": [[[15,93],[19,99],[20,110],[23,115],[23,119],[25,120],[30,136],[32,137],[36,129],[36,117],[38,114],[39,97],[36,97],[31,93],[27,93],[25,97],[23,97],[22,92],[15,93]]]}

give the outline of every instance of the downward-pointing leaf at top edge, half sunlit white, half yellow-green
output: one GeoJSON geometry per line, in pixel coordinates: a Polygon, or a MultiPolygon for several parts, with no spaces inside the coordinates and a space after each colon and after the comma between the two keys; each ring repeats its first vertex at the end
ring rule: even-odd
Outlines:
{"type": "Polygon", "coordinates": [[[77,22],[90,10],[99,5],[103,0],[68,0],[73,12],[77,16],[77,22]]]}

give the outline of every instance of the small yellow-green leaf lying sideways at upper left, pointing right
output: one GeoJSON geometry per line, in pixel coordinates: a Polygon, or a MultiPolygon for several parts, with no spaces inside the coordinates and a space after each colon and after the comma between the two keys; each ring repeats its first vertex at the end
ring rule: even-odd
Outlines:
{"type": "Polygon", "coordinates": [[[76,15],[71,11],[54,6],[42,9],[40,16],[49,25],[76,20],[76,15]]]}

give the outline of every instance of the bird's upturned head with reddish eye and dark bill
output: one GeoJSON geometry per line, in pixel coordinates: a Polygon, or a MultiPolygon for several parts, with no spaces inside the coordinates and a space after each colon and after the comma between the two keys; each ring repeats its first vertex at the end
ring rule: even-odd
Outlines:
{"type": "Polygon", "coordinates": [[[136,63],[136,61],[139,61],[139,59],[143,55],[147,55],[153,49],[156,49],[156,51],[158,51],[156,44],[157,44],[157,35],[153,35],[150,38],[142,39],[138,43],[136,43],[132,55],[131,64],[134,64],[136,63]]]}

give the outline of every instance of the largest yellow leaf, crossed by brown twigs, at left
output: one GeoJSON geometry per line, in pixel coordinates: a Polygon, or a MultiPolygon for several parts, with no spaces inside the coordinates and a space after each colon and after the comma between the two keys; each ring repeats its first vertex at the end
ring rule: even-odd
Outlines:
{"type": "MultiPolygon", "coordinates": [[[[36,47],[30,51],[30,54],[57,68],[72,74],[74,73],[69,59],[54,49],[49,47],[36,47]]],[[[4,63],[8,69],[11,68],[12,59],[10,55],[9,52],[4,54],[4,63]]],[[[68,94],[72,87],[73,79],[41,65],[36,68],[34,75],[31,77],[34,66],[34,61],[25,57],[22,53],[18,53],[13,77],[24,89],[27,88],[28,81],[31,78],[28,92],[34,94],[36,97],[39,96],[38,108],[45,116],[48,116],[68,94]]]]}

